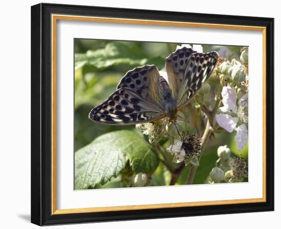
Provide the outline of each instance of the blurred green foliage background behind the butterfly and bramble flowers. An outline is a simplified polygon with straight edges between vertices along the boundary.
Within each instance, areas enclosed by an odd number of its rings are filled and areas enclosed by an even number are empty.
[[[159,70],[165,67],[165,59],[181,43],[138,42],[75,39],[75,151],[89,144],[99,135],[114,130],[135,129],[135,126],[111,126],[92,122],[88,119],[92,107],[99,105],[116,89],[120,79],[134,67],[154,64]],[[191,44],[192,45],[192,44]],[[203,52],[217,51],[220,57],[239,60],[242,47],[202,45]],[[209,141],[201,158],[195,184],[202,184],[217,160],[217,148],[228,145],[233,153],[238,153],[235,133],[216,134],[216,141]],[[247,149],[247,147],[246,147]],[[241,155],[241,154],[240,154]],[[247,150],[242,151],[247,159]],[[182,173],[186,178],[189,167]],[[161,166],[155,173],[163,173]],[[181,179],[180,177],[180,179]],[[179,179],[179,182],[180,182]],[[185,180],[184,180],[185,181]],[[183,181],[183,182],[184,182]],[[154,180],[157,182],[157,180]]]

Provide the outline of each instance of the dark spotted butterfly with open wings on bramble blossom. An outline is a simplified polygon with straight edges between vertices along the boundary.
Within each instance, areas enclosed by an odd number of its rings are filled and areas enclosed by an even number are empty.
[[[166,58],[168,82],[155,65],[126,73],[107,100],[93,107],[89,119],[109,125],[133,125],[168,118],[188,104],[215,68],[218,53],[183,47]]]

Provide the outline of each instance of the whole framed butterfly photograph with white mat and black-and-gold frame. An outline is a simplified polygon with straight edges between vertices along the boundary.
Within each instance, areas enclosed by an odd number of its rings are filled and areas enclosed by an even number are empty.
[[[273,211],[273,22],[32,6],[32,223]]]

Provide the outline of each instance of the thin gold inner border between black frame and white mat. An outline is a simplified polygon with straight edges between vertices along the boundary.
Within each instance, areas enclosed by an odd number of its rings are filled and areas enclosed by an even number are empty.
[[[252,198],[252,199],[236,199],[236,200],[125,205],[125,206],[117,206],[117,207],[57,209],[56,208],[57,205],[56,204],[57,203],[57,198],[56,198],[56,193],[57,193],[57,189],[56,189],[56,182],[57,182],[56,179],[56,78],[57,78],[56,26],[57,26],[57,20],[95,21],[95,22],[109,22],[109,23],[123,23],[123,24],[262,31],[263,32],[263,197]],[[52,176],[52,208],[51,208],[52,215],[266,202],[266,27],[52,14],[52,174],[51,176]]]

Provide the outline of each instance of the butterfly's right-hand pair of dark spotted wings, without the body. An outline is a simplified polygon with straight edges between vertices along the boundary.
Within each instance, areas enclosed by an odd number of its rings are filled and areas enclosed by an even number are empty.
[[[217,52],[197,53],[185,47],[166,59],[168,80],[177,101],[177,109],[181,109],[196,95],[214,70],[217,60]]]

